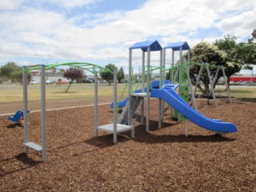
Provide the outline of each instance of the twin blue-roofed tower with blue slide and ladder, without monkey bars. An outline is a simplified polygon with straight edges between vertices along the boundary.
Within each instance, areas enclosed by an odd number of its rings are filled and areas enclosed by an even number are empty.
[[[178,73],[174,74],[174,70],[171,70],[171,84],[164,85],[165,83],[165,75],[163,72],[165,71],[166,66],[166,49],[172,49],[172,69],[174,69],[174,51],[179,50],[180,58],[178,67],[175,66],[175,69],[178,69]],[[126,102],[126,107],[122,111],[120,116],[120,123],[126,123],[127,125],[131,125],[132,116],[134,115],[134,111],[140,107],[141,112],[141,123],[143,123],[143,111],[144,111],[144,102],[146,100],[146,131],[150,130],[150,97],[158,98],[158,128],[162,127],[162,119],[163,119],[163,102],[167,102],[168,105],[172,106],[177,112],[174,117],[178,118],[178,121],[185,120],[186,118],[190,119],[191,122],[198,124],[198,126],[202,126],[207,130],[214,130],[220,133],[230,133],[237,131],[237,128],[232,123],[222,122],[220,120],[213,120],[210,118],[206,118],[199,114],[196,110],[191,108],[188,102],[188,94],[189,90],[191,90],[192,102],[195,105],[194,94],[192,90],[192,84],[190,81],[189,75],[189,64],[190,64],[190,46],[188,46],[187,42],[175,42],[170,43],[164,47],[164,54],[162,57],[162,46],[158,43],[158,41],[147,41],[147,42],[137,42],[133,46],[130,46],[129,50],[129,79],[128,82],[131,82],[131,69],[132,69],[132,50],[140,49],[142,50],[142,71],[146,71],[146,86],[144,75],[142,75],[142,86],[141,92],[132,92],[131,83],[129,84],[129,99]],[[182,50],[189,51],[189,59],[187,62],[182,63]],[[160,52],[160,80],[158,82],[158,87],[152,86],[150,83],[150,52],[151,51],[159,51]],[[147,61],[145,62],[145,53],[147,54]],[[164,62],[162,62],[162,60]],[[146,67],[145,67],[146,66]],[[206,65],[207,66],[207,65]],[[145,70],[146,68],[146,70]],[[209,69],[209,68],[208,68]],[[176,78],[174,76],[176,75]],[[178,78],[178,81],[175,80]],[[210,75],[209,75],[210,78]],[[174,83],[178,83],[175,86]],[[146,87],[146,88],[145,88]],[[178,87],[178,94],[174,92],[174,90]],[[211,87],[212,84],[211,84]],[[212,91],[214,91],[212,89]],[[214,93],[214,92],[213,92]],[[183,119],[182,119],[183,118]],[[200,119],[199,121],[197,119]],[[203,123],[201,123],[203,122]],[[188,132],[187,123],[186,123],[186,135]]]

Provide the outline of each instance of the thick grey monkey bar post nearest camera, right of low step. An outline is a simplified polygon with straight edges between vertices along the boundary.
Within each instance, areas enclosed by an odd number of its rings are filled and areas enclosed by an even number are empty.
[[[46,66],[41,65],[41,129],[42,129],[42,161],[47,162],[46,151]]]

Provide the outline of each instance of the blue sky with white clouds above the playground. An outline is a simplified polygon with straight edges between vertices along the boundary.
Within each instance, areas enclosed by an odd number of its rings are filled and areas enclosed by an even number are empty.
[[[9,0],[0,2],[0,66],[55,62],[128,65],[134,42],[193,47],[256,27],[251,0]],[[138,66],[140,53],[134,54]],[[158,55],[152,55],[157,62]]]

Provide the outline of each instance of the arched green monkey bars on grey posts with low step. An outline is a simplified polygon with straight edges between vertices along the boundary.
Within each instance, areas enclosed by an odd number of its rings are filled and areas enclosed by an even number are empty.
[[[98,66],[88,62],[65,62],[58,64],[37,65],[37,66],[23,66],[23,106],[24,106],[24,150],[27,154],[29,149],[37,150],[42,153],[42,161],[47,162],[46,154],[46,70],[57,66],[74,66],[83,70],[90,71],[94,74],[94,126],[98,126],[98,73],[107,70],[113,74],[113,71],[108,70],[102,66]],[[41,71],[41,136],[42,144],[30,141],[30,131],[28,126],[28,94],[27,94],[27,72],[30,70]],[[95,129],[96,130],[96,129]]]

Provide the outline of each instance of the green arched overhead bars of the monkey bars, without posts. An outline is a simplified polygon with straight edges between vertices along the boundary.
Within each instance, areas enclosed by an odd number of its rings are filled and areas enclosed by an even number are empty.
[[[26,69],[26,72],[29,72],[30,70],[40,70],[40,66],[41,65],[30,67],[30,68]],[[106,70],[106,71],[109,71],[111,74],[114,74],[113,71],[108,70],[105,67],[98,66],[96,64],[89,63],[89,62],[64,62],[64,63],[57,63],[57,64],[49,64],[49,65],[46,65],[46,70],[49,70],[49,69],[57,67],[57,66],[76,66],[83,70],[88,70],[92,74],[98,74],[98,71],[96,69]],[[87,68],[84,66],[93,66],[93,67]],[[95,69],[95,70],[91,70],[91,69]]]

